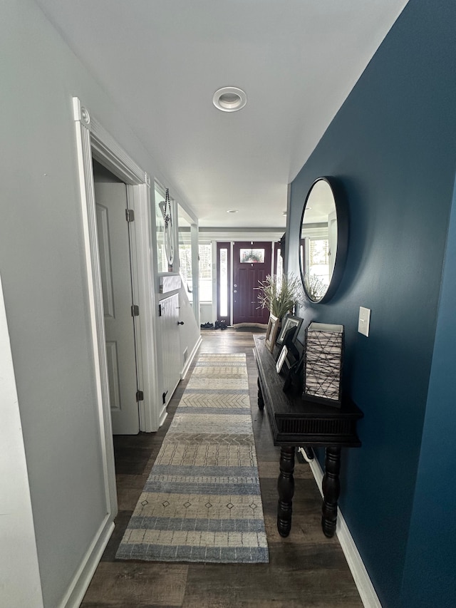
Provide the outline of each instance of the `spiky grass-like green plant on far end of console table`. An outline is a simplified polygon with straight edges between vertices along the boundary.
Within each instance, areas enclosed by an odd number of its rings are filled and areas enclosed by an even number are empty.
[[[264,281],[259,281],[258,302],[261,308],[267,308],[270,314],[282,319],[287,312],[293,312],[296,304],[301,302],[301,280],[294,274],[284,274],[281,281],[275,274],[268,274]]]

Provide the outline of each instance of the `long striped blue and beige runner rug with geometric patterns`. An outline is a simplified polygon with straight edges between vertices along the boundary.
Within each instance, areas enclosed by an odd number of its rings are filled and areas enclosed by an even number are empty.
[[[202,354],[116,557],[269,562],[245,354]]]

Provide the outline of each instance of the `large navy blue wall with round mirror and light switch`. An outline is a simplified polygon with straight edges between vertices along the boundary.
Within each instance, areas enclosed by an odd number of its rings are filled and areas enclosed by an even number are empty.
[[[455,24],[454,0],[438,8],[410,0],[291,185],[294,272],[311,183],[331,175],[346,194],[351,232],[341,286],[301,316],[346,326],[345,382],[365,418],[363,447],[343,453],[340,505],[388,608],[418,605],[400,596],[406,559],[413,576],[409,531],[420,527],[415,485],[455,180]],[[372,310],[368,338],[357,332],[359,306]],[[426,457],[440,466],[438,450]],[[438,605],[437,597],[420,605]]]

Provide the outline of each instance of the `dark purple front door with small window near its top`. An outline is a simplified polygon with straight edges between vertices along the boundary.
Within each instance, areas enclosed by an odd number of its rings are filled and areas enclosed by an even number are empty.
[[[233,323],[263,323],[269,310],[258,302],[259,282],[271,274],[270,242],[237,242],[233,246]]]

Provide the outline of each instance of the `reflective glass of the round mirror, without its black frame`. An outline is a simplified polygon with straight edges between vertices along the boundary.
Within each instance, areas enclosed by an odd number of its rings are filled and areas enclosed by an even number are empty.
[[[314,182],[301,220],[299,261],[304,290],[311,302],[328,294],[338,248],[338,217],[333,189],[326,177]]]

